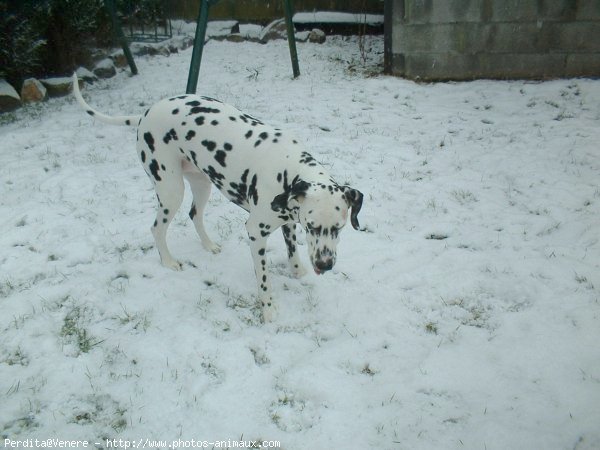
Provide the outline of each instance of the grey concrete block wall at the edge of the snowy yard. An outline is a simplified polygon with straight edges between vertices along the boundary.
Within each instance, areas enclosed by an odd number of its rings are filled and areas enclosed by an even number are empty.
[[[385,14],[396,75],[600,76],[600,0],[386,0]]]

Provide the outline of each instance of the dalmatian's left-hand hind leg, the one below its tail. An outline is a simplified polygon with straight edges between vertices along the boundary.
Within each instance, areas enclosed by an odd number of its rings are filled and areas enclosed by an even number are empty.
[[[153,179],[153,181],[158,199],[156,220],[151,228],[154,242],[162,265],[170,269],[181,270],[183,268],[181,263],[173,258],[167,247],[167,230],[183,201],[184,185],[181,169],[167,175],[163,174],[162,178]]]

